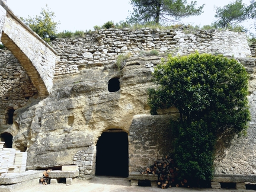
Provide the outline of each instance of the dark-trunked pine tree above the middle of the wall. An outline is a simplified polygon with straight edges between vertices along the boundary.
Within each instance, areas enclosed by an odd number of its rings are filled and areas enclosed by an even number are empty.
[[[161,21],[174,21],[192,15],[200,15],[204,5],[196,7],[196,1],[187,4],[186,0],[131,0],[133,12],[129,23],[159,24]]]

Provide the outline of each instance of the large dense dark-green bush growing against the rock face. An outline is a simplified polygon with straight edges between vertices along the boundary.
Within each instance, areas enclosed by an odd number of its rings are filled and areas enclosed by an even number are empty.
[[[169,57],[153,72],[158,88],[149,89],[151,114],[176,107],[172,121],[180,177],[194,184],[212,178],[213,149],[219,133],[245,132],[249,121],[248,75],[235,59],[194,53]]]

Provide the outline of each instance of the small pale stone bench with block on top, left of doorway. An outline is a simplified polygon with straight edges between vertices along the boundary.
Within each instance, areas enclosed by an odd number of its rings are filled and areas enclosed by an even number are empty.
[[[58,181],[65,179],[66,184],[72,184],[73,180],[78,177],[79,171],[77,165],[62,166],[62,171],[50,171],[50,184],[57,184]]]

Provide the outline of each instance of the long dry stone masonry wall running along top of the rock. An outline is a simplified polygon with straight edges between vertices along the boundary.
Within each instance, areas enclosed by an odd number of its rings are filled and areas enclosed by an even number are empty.
[[[52,43],[58,52],[55,75],[96,69],[99,66],[114,68],[120,54],[139,56],[152,49],[158,50],[160,54],[172,55],[187,55],[198,51],[224,56],[251,56],[245,34],[232,31],[203,30],[185,34],[181,30],[151,28],[102,29],[98,34],[79,39],[56,39]]]

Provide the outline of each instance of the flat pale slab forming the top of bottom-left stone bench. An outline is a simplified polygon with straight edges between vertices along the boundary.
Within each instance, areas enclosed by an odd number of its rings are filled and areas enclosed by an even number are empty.
[[[42,176],[43,171],[25,171],[22,173],[11,173],[0,177],[0,185],[22,183],[24,181],[39,179]]]

